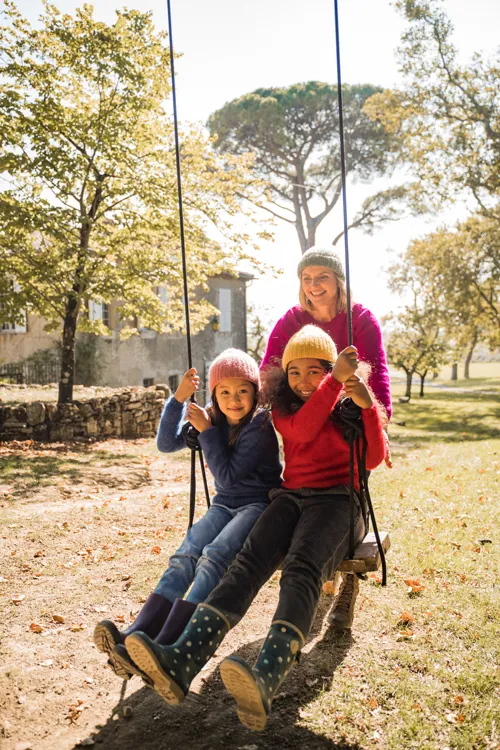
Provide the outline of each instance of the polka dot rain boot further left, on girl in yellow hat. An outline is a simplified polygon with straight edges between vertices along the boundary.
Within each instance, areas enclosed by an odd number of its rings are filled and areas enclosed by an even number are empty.
[[[229,628],[229,621],[221,612],[199,604],[186,629],[171,646],[161,646],[145,633],[129,635],[125,646],[133,662],[151,678],[156,692],[168,704],[177,706]]]

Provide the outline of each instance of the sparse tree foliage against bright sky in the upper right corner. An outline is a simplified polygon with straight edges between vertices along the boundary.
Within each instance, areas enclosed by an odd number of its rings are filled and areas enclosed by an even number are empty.
[[[461,64],[442,0],[398,0],[409,22],[399,49],[403,86],[365,111],[399,142],[431,208],[471,196],[500,221],[500,50]]]

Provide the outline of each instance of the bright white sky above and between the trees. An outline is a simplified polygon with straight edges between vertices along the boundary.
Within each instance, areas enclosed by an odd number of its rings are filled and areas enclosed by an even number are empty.
[[[52,0],[72,13],[77,0]],[[152,11],[158,28],[167,28],[163,0],[101,0],[100,20],[112,23],[114,9],[126,5]],[[41,0],[17,0],[19,10],[35,22]],[[444,0],[455,26],[454,42],[463,62],[474,52],[492,53],[499,45],[500,3],[493,0]],[[171,0],[173,41],[182,57],[176,61],[177,107],[181,120],[205,123],[226,102],[264,86],[286,86],[319,80],[336,83],[333,0]],[[389,0],[339,0],[340,51],[344,83],[372,83],[386,88],[400,81],[395,58],[404,23]],[[347,186],[348,213],[356,213],[363,198],[388,186],[386,180]],[[388,291],[385,269],[411,239],[440,224],[452,225],[464,206],[438,217],[409,218],[367,236],[349,235],[350,267],[355,300],[381,317],[398,305]],[[339,231],[338,209],[325,220],[317,244],[330,246]],[[260,258],[283,269],[279,279],[256,279],[249,300],[267,308],[275,321],[297,302],[296,265],[300,246],[293,227],[278,224],[273,243],[262,245]],[[337,246],[339,248],[339,246]],[[343,252],[343,246],[339,248]]]

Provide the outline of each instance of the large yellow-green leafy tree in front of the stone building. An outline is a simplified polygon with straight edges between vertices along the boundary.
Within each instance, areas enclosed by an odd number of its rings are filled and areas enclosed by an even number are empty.
[[[158,331],[183,326],[169,52],[150,13],[117,11],[107,25],[90,5],[70,16],[46,4],[35,28],[6,0],[2,16],[2,316],[27,310],[62,327],[65,401],[77,325],[103,332],[89,320],[90,300],[118,300],[129,332],[137,318]],[[252,178],[247,157],[221,165],[202,132],[185,128],[181,140],[193,292],[248,257],[231,215]],[[193,300],[193,330],[212,313]]]

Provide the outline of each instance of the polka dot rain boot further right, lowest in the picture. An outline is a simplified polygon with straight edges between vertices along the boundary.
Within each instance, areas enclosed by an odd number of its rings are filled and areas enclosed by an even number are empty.
[[[236,701],[238,718],[245,727],[257,732],[265,729],[273,697],[303,645],[304,637],[298,628],[276,620],[253,669],[238,656],[224,659],[221,677]]]

